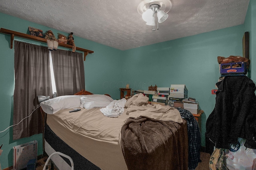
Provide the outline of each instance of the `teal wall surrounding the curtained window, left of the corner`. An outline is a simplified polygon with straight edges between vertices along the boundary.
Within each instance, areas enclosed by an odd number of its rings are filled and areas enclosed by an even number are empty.
[[[40,28],[44,32],[51,29],[54,35],[58,35],[57,33],[68,35],[68,33],[0,13],[1,28],[28,33],[28,26]],[[20,39],[18,37],[15,38]],[[75,35],[74,40],[77,47],[94,51],[94,53],[87,55],[86,61],[84,61],[86,90],[94,94],[110,94],[113,98],[119,98],[118,87],[123,86],[123,84],[120,84],[122,79],[122,72],[120,70],[122,68],[121,59],[124,52]],[[25,41],[28,42],[28,40]],[[46,46],[46,43],[29,42]],[[14,48],[10,49],[10,35],[0,33],[0,51],[0,131],[3,131],[12,125],[13,115]],[[42,154],[42,134],[13,141],[12,128],[0,133],[0,145],[3,144],[3,152],[0,156],[2,169],[13,164],[12,147],[33,140],[38,141],[38,155]]]

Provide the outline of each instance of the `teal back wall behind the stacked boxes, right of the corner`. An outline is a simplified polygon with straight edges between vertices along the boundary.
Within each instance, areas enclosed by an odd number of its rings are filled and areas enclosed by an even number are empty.
[[[159,30],[161,31],[161,30]],[[188,96],[198,100],[202,115],[202,146],[205,123],[215,105],[215,84],[220,77],[218,56],[242,56],[243,25],[157,43],[126,51],[123,78],[131,88],[146,90],[155,84],[185,84]]]

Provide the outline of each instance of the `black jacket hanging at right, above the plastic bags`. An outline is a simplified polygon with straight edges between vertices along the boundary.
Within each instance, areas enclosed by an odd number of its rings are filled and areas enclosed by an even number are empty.
[[[216,104],[206,121],[206,137],[218,148],[229,149],[238,137],[256,149],[255,84],[247,76],[227,76],[216,83]]]

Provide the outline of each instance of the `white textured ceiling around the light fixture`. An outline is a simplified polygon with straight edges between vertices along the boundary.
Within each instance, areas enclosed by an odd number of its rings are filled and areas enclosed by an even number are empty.
[[[249,0],[171,0],[168,19],[152,31],[137,10],[141,2],[1,0],[0,12],[126,50],[243,24],[249,4]]]

